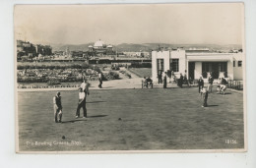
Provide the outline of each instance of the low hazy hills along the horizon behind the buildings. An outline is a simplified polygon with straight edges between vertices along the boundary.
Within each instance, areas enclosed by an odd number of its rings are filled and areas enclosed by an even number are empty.
[[[53,51],[65,51],[69,48],[70,51],[88,51],[90,45],[94,45],[94,42],[86,43],[86,44],[50,44],[52,46]],[[242,45],[239,44],[168,44],[168,43],[121,43],[117,45],[113,45],[113,49],[118,52],[139,52],[139,51],[151,51],[156,50],[159,47],[164,49],[176,49],[183,48],[185,50],[189,50],[191,48],[208,48],[209,50],[218,50],[218,51],[226,51],[233,49],[241,49]]]

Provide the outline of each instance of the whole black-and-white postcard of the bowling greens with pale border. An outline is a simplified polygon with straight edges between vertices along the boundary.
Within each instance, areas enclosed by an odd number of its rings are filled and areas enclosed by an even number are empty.
[[[247,151],[243,3],[15,5],[19,153]]]

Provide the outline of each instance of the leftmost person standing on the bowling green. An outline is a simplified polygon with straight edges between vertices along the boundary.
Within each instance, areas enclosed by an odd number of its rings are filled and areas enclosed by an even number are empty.
[[[57,91],[56,95],[53,97],[53,110],[54,110],[54,121],[55,123],[62,122],[62,105],[60,91]]]

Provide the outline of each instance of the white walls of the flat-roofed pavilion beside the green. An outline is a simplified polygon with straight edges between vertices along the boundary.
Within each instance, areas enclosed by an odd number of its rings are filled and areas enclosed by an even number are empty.
[[[195,62],[195,79],[202,76],[202,62],[227,62],[227,76],[230,80],[242,80],[242,67],[238,67],[238,61],[243,60],[242,53],[188,53],[185,50],[176,51],[153,51],[152,52],[152,74],[153,81],[158,81],[157,59],[163,59],[164,72],[169,70],[170,59],[179,59],[179,72],[175,72],[176,78],[180,77],[180,73],[184,75],[188,70],[188,61]],[[233,67],[235,61],[235,67]],[[167,79],[169,80],[169,79]]]

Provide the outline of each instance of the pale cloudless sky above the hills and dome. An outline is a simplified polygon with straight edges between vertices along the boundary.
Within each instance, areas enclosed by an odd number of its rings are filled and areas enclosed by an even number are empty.
[[[33,43],[242,44],[242,3],[16,5],[16,39]]]

